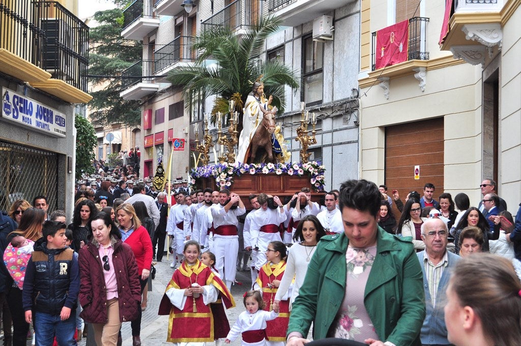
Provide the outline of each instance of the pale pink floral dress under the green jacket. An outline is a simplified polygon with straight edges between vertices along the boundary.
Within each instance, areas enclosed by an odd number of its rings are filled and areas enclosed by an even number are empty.
[[[376,245],[359,249],[348,246],[345,253],[347,267],[345,296],[335,318],[329,337],[364,342],[378,340],[375,328],[364,306],[364,291],[375,261]]]

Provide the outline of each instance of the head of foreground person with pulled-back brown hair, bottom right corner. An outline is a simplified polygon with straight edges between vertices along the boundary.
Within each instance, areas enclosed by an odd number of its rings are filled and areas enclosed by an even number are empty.
[[[456,346],[518,345],[519,273],[519,261],[495,255],[480,254],[458,261],[444,307],[449,342]]]

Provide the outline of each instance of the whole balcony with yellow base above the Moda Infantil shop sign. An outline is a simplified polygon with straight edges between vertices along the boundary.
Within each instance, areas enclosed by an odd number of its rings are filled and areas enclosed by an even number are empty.
[[[87,102],[88,48],[89,27],[58,2],[0,2],[0,71],[7,75],[67,102]]]

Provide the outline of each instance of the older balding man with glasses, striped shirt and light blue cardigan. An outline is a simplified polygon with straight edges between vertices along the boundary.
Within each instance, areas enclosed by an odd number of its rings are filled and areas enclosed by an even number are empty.
[[[430,218],[421,225],[421,239],[425,250],[418,252],[423,271],[425,305],[427,314],[421,327],[422,345],[448,345],[447,328],[443,312],[446,303],[445,290],[449,285],[451,269],[460,256],[446,250],[447,226],[439,218]]]

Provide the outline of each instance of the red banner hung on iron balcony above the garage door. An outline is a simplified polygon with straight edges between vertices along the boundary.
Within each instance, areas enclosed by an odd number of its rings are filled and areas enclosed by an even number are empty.
[[[376,69],[403,63],[408,58],[409,21],[376,32]]]

